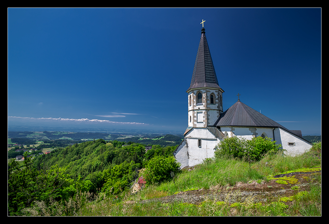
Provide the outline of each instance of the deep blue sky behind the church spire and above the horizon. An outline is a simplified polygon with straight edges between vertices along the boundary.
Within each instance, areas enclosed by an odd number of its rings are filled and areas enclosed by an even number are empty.
[[[202,19],[224,110],[321,134],[319,8],[10,8],[8,126],[184,133]]]

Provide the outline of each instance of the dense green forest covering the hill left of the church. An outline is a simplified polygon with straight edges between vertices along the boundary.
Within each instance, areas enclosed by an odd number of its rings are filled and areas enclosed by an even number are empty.
[[[135,183],[138,170],[150,160],[172,158],[176,148],[153,145],[145,153],[145,145],[124,144],[98,139],[25,158],[22,165],[12,159],[8,164],[8,215],[29,215],[28,208],[40,201],[65,207],[67,201],[79,200],[81,193],[119,195]],[[169,167],[178,172],[179,165],[171,162]]]

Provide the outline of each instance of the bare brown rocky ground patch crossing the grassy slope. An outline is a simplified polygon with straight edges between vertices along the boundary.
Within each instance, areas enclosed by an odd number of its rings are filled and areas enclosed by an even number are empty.
[[[277,183],[277,179],[273,179],[269,182],[263,181],[260,184],[256,181],[248,184],[238,183],[233,187],[214,187],[209,190],[201,189],[179,192],[170,196],[144,200],[142,203],[160,200],[162,203],[173,203],[177,201],[180,203],[199,204],[206,199],[234,203],[243,202],[248,197],[253,197],[255,202],[277,201],[280,197],[288,197],[299,191],[308,191],[310,185],[314,184],[312,175],[315,173],[319,173],[321,175],[321,171],[280,174],[274,177],[291,177],[294,182],[287,181],[287,184],[282,184]]]

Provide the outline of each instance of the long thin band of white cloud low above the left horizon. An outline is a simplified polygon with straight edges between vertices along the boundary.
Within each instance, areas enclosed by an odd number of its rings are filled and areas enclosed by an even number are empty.
[[[8,118],[19,118],[19,119],[30,119],[30,120],[45,120],[45,121],[73,121],[73,122],[92,122],[92,123],[111,123],[111,124],[137,124],[137,125],[149,125],[145,123],[138,123],[138,122],[117,122],[117,121],[108,121],[108,120],[98,120],[98,119],[88,119],[88,118],[81,118],[81,119],[72,119],[72,118],[52,118],[52,117],[14,117],[8,116]]]

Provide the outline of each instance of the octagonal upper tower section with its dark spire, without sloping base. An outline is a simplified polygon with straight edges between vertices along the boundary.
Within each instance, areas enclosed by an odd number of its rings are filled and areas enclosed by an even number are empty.
[[[193,128],[213,126],[223,112],[224,91],[218,85],[204,28],[201,29],[190,88],[186,92],[188,93],[188,126]]]

